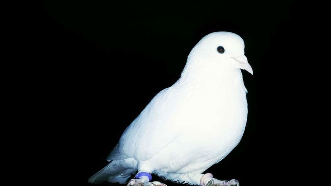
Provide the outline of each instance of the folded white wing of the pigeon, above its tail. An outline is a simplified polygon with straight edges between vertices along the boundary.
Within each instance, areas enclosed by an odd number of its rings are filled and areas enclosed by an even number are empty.
[[[134,158],[145,161],[159,153],[179,135],[172,126],[178,107],[176,91],[166,88],[158,93],[140,115],[125,129],[108,161]]]

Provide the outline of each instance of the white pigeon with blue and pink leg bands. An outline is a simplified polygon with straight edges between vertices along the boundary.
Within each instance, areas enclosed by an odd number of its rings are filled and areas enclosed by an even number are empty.
[[[166,186],[238,185],[203,172],[240,142],[247,122],[247,89],[242,70],[253,75],[243,39],[218,31],[191,50],[180,78],[160,91],[124,130],[107,157],[110,163],[88,180]],[[132,175],[133,178],[129,179]]]

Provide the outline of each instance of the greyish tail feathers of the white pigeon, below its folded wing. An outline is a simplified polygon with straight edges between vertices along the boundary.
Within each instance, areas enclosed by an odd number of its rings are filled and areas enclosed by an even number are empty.
[[[122,167],[118,161],[112,161],[99,172],[88,179],[90,183],[102,183],[104,181],[124,184],[137,169]]]

